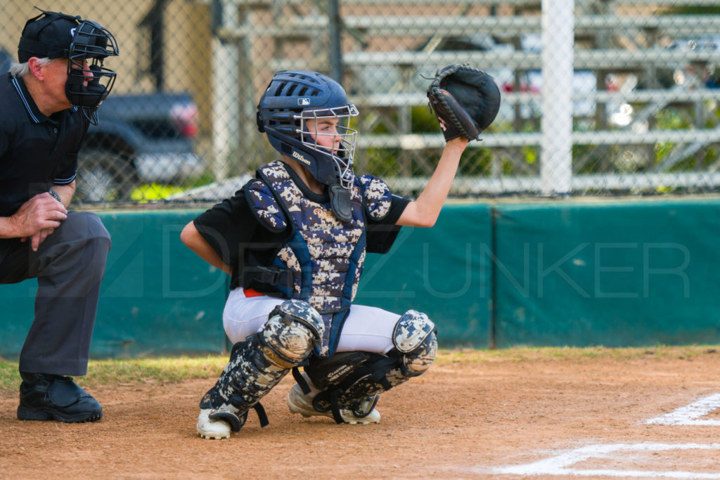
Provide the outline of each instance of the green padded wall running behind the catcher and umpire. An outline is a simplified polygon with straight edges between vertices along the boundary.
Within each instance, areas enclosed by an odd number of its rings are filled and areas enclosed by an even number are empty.
[[[218,353],[228,276],[179,240],[199,211],[101,212],[113,236],[94,357]],[[441,347],[720,343],[720,199],[454,203],[368,255],[356,303],[438,325]],[[35,281],[0,289],[0,356]]]

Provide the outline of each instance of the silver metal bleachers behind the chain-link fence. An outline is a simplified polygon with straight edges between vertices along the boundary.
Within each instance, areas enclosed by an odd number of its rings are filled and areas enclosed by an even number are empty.
[[[282,69],[312,68],[328,71],[329,57],[325,35],[329,19],[320,4],[302,1],[238,1],[243,9],[271,9],[272,22],[240,24],[225,29],[218,35],[225,39],[251,36],[258,41],[307,42],[311,55],[285,56],[256,59],[273,71]],[[427,14],[431,6],[450,4],[443,15]],[[343,43],[342,67],[346,84],[350,86],[352,101],[364,114],[364,133],[359,148],[402,148],[403,150],[440,149],[444,145],[441,135],[433,132],[413,132],[410,117],[413,107],[426,105],[426,96],[418,88],[418,77],[436,71],[451,63],[477,65],[487,71],[503,69],[511,71],[513,80],[519,82],[523,74],[540,71],[542,56],[539,49],[521,47],[528,34],[541,34],[540,1],[532,0],[348,0],[341,1],[343,9],[351,9],[342,17]],[[397,14],[392,6],[408,6]],[[446,5],[447,6],[447,5]],[[631,14],[624,14],[624,7],[631,6]],[[578,94],[575,101],[595,104],[589,118],[572,134],[573,145],[635,145],[649,146],[658,142],[674,143],[675,152],[660,166],[650,168],[648,173],[662,175],[680,160],[693,155],[706,145],[720,143],[720,123],[707,115],[694,115],[706,102],[720,101],[720,89],[705,86],[701,73],[712,71],[720,65],[720,44],[716,48],[697,48],[684,45],[687,39],[719,35],[720,14],[668,14],[670,6],[717,6],[716,0],[577,0],[575,2],[575,71],[589,71],[598,78],[596,88]],[[361,7],[366,7],[361,12]],[[413,7],[413,8],[410,8]],[[423,9],[424,8],[424,9]],[[495,14],[502,8],[502,14]],[[387,14],[387,12],[392,12]],[[417,10],[417,14],[415,13]],[[438,11],[437,9],[435,11]],[[640,12],[642,11],[642,12]],[[360,13],[361,12],[361,13]],[[424,13],[423,13],[424,12]],[[444,37],[486,35],[503,48],[474,51],[433,50],[433,45]],[[411,38],[422,48],[410,49],[395,44],[399,37]],[[387,39],[383,42],[382,39]],[[371,41],[372,40],[372,41]],[[435,42],[433,42],[435,40]],[[410,42],[412,43],[412,42]],[[253,62],[251,62],[253,63]],[[383,89],[354,84],[356,78],[374,69],[390,69],[397,72],[397,81]],[[683,81],[672,86],[662,85],[657,72],[683,73]],[[644,79],[641,86],[608,90],[604,78],[621,76]],[[541,95],[537,91],[503,91],[503,104],[510,112],[510,129],[492,131],[482,142],[472,142],[474,148],[512,149],[536,148],[540,142],[537,131]],[[631,104],[634,121],[626,125],[609,124],[606,105]],[[654,115],[662,109],[674,106],[685,109],[693,117],[690,129],[655,130]],[[521,115],[521,111],[534,112]],[[580,115],[579,115],[580,117]],[[379,121],[397,119],[396,124],[385,133],[372,132]],[[528,123],[529,122],[529,123]],[[529,128],[528,124],[534,125]],[[642,124],[642,127],[641,127]],[[426,169],[430,173],[431,167]],[[612,172],[608,172],[612,173]],[[680,173],[675,174],[675,176]],[[720,178],[710,178],[718,181]],[[477,188],[482,179],[475,178]],[[485,180],[488,180],[486,177]],[[422,181],[422,179],[420,179]],[[582,185],[582,178],[575,181]],[[623,182],[606,176],[607,188],[624,188]],[[658,179],[657,181],[661,181]],[[663,178],[662,181],[667,181]],[[472,183],[468,180],[469,184]],[[608,182],[610,182],[608,184]],[[682,183],[683,180],[678,180]],[[676,182],[676,183],[678,183]],[[462,182],[461,182],[462,183]],[[505,182],[507,184],[507,182]],[[652,183],[652,182],[651,182]],[[463,190],[462,187],[458,187]],[[495,187],[492,187],[495,188]],[[490,188],[490,189],[492,189]],[[513,188],[523,189],[522,181]],[[469,191],[470,189],[468,187]]]

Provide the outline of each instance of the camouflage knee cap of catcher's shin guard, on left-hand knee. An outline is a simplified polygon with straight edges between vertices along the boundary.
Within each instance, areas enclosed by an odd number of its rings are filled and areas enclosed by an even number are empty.
[[[323,338],[323,318],[309,303],[287,300],[270,312],[260,332],[265,356],[277,366],[292,368],[310,356]]]

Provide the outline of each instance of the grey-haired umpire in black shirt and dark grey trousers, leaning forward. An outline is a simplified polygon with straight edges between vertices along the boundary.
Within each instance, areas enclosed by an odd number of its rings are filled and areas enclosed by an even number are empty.
[[[81,142],[114,83],[102,63],[118,50],[95,22],[41,12],[0,75],[0,284],[37,278],[17,417],[93,422],[102,407],[66,375],[87,371],[110,235],[67,207]]]

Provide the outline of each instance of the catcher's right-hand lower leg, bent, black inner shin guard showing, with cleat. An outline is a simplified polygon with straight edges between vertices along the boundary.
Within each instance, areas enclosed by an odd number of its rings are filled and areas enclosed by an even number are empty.
[[[432,365],[438,351],[436,328],[426,314],[410,310],[400,317],[393,335],[395,348],[387,355],[343,352],[311,358],[287,397],[290,412],[305,417],[325,415],[338,423],[377,423],[378,396],[418,376]]]

